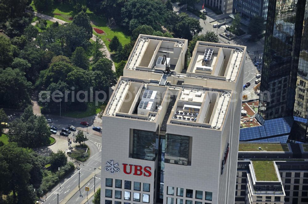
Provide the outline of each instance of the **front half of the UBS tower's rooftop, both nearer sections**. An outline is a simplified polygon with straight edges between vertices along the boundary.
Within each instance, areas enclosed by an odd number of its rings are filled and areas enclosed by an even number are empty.
[[[161,116],[165,122],[170,119],[171,124],[219,129],[230,98],[231,91],[228,90],[185,84],[159,86],[159,82],[154,80],[122,77],[106,114],[155,121],[164,108],[169,110]]]

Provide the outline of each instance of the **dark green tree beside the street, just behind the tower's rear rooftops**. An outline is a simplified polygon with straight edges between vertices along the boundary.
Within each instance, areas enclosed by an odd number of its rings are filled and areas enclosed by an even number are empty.
[[[186,13],[180,13],[179,18],[180,21],[177,22],[174,28],[174,33],[177,37],[191,40],[195,34],[202,31],[200,22],[197,19],[189,17]]]

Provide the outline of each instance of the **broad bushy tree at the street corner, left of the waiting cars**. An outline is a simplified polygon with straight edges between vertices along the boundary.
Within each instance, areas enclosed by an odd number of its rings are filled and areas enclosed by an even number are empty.
[[[33,114],[32,106],[28,106],[20,118],[10,123],[8,137],[20,147],[37,147],[49,144],[50,128],[46,118]]]

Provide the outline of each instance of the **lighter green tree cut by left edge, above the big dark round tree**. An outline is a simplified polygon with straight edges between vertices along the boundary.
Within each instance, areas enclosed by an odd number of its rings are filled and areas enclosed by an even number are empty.
[[[14,47],[9,38],[0,35],[0,67],[6,68],[12,63]]]

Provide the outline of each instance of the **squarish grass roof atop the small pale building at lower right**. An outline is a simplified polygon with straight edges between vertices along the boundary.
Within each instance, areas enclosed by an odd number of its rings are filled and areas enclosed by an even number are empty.
[[[273,161],[252,161],[257,181],[278,181]]]

